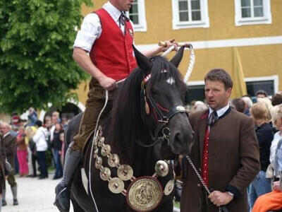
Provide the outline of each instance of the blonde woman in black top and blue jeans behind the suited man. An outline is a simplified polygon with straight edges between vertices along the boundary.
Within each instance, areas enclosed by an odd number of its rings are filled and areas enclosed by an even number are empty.
[[[271,192],[271,181],[266,178],[266,169],[269,166],[269,154],[271,141],[274,137],[272,127],[269,124],[271,114],[266,105],[258,102],[252,105],[250,114],[255,122],[257,141],[259,141],[259,161],[261,170],[250,184],[250,208],[254,206],[258,196]]]

